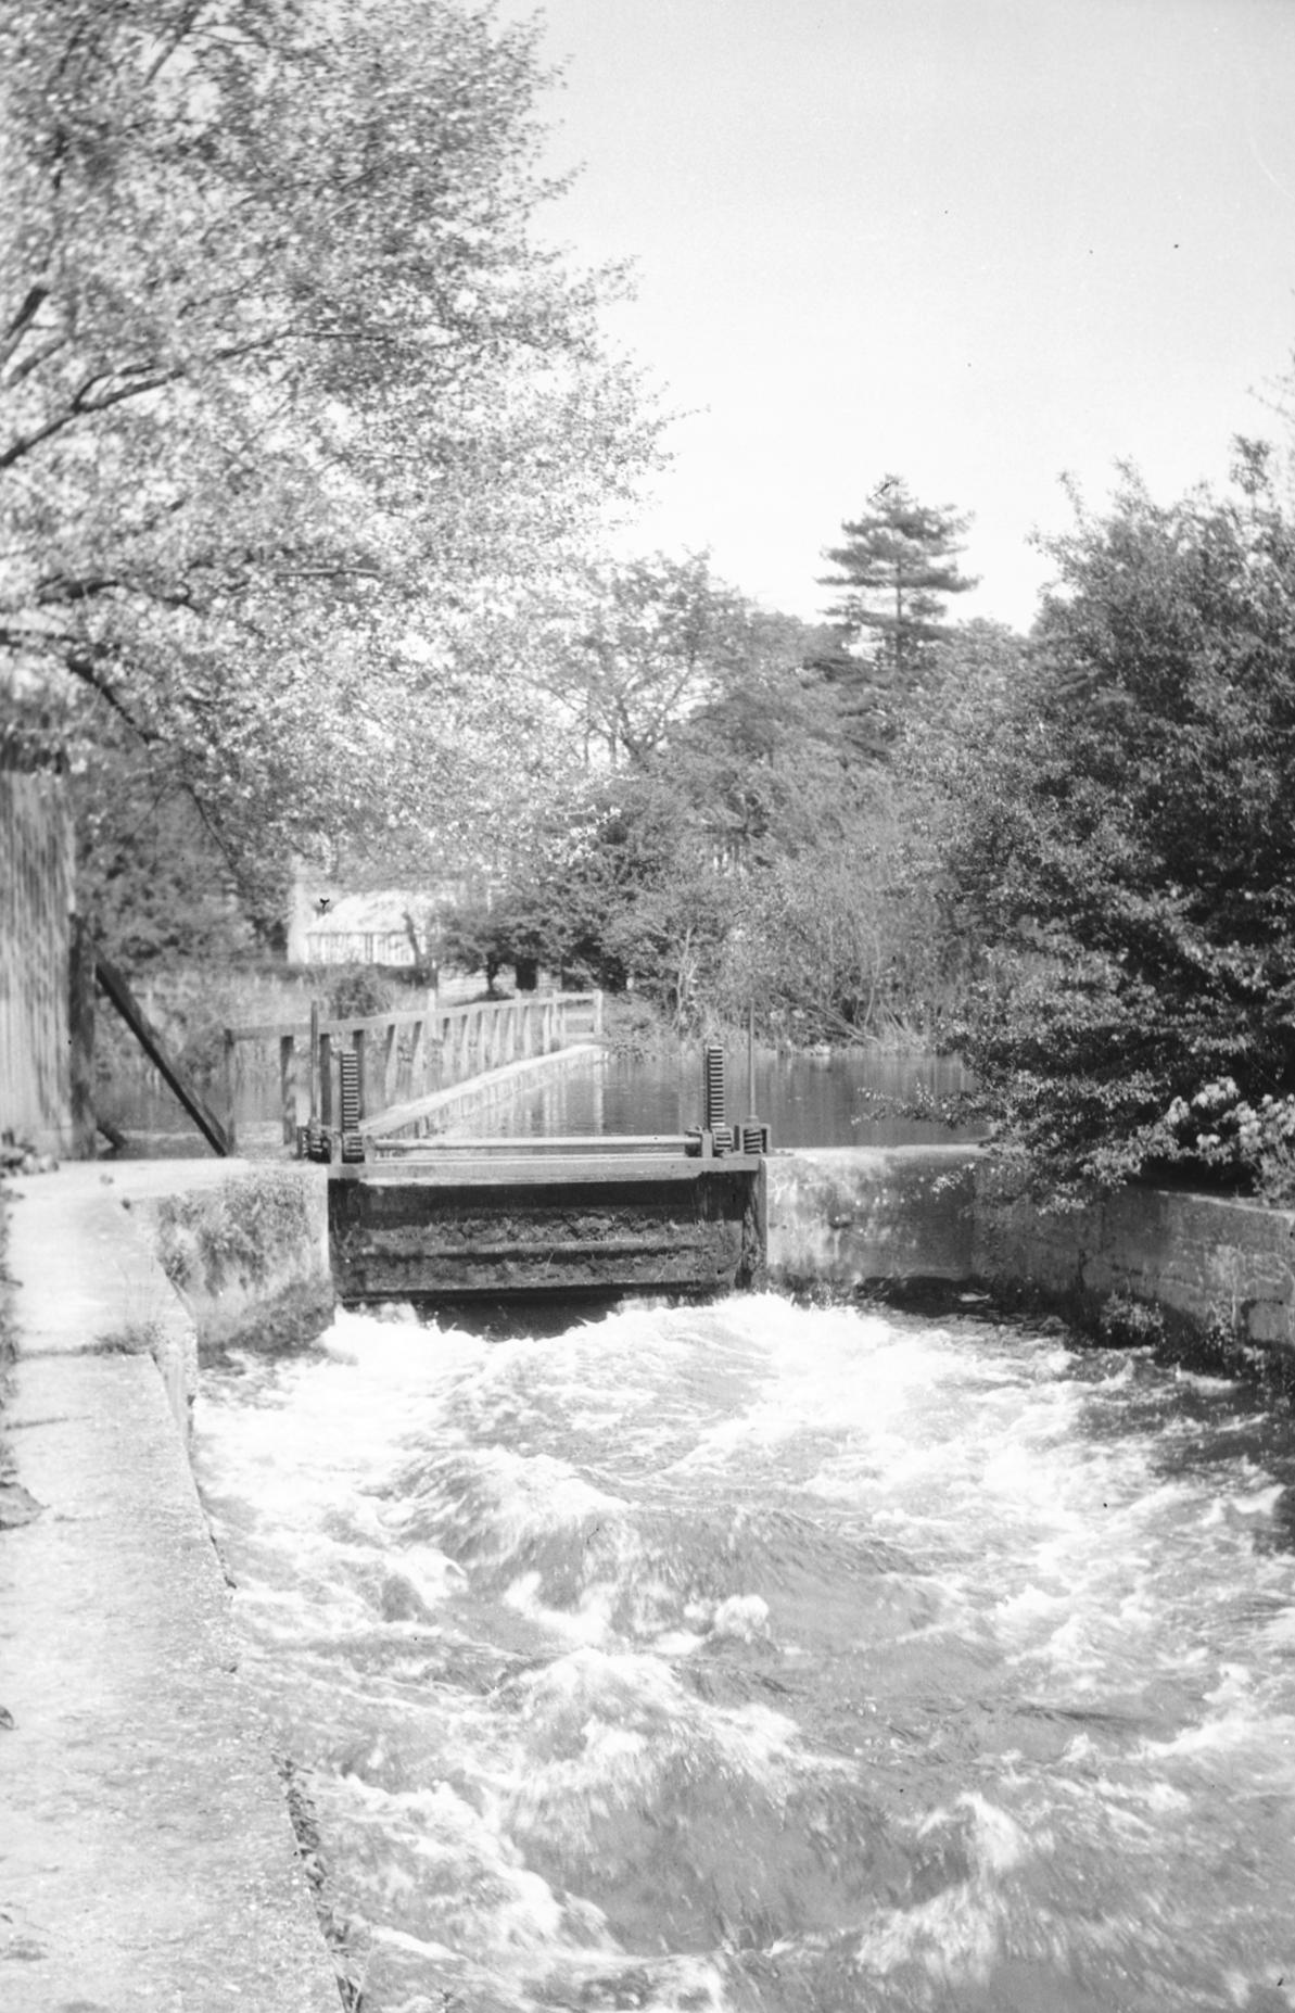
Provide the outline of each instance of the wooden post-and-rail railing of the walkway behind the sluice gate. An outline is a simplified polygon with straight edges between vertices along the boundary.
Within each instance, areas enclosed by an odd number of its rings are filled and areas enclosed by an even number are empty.
[[[532,1055],[550,1055],[602,1033],[602,992],[526,992],[510,1000],[467,1006],[427,1006],[344,1019],[264,1021],[228,1027],[224,1041],[224,1105],[230,1151],[236,1113],[252,1071],[278,1071],[278,1109],[286,1145],[318,1111],[336,1123],[334,1057],[352,1049],[358,1063],[361,1117],[377,1119],[395,1105],[417,1103],[489,1069]]]

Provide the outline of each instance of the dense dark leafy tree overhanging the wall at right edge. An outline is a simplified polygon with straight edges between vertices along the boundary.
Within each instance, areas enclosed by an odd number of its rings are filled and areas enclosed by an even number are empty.
[[[1267,453],[1053,541],[1031,670],[949,753],[945,868],[985,946],[963,1031],[1055,1188],[1174,1162],[1289,1182],[1295,527]]]

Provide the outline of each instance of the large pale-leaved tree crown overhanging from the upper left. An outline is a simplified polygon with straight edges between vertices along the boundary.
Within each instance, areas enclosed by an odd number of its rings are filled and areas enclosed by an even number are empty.
[[[536,745],[493,644],[657,441],[618,278],[534,242],[536,28],[4,0],[0,74],[0,662],[234,856],[479,819]]]

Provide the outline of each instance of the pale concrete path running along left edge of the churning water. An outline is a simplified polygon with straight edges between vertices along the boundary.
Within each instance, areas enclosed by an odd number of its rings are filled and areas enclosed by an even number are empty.
[[[42,1510],[0,1532],[4,2013],[340,2005],[236,1671],[183,1403],[131,1353],[187,1323],[131,1206],[236,1166],[73,1166],[6,1190],[4,1427]]]

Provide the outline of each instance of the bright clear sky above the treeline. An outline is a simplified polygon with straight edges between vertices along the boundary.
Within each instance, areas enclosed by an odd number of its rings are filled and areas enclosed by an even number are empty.
[[[503,18],[536,14],[501,0]],[[957,612],[1027,626],[1061,487],[1164,501],[1285,441],[1295,0],[548,0],[546,211],[681,417],[628,550],[816,618],[902,475],[971,511]]]

